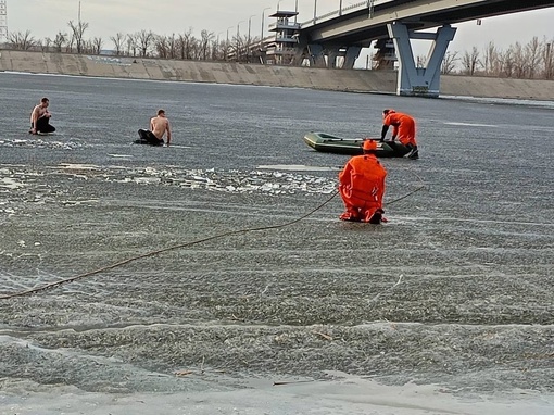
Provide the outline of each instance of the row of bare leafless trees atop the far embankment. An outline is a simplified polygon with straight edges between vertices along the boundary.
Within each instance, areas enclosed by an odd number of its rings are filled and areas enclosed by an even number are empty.
[[[100,54],[104,41],[100,37],[85,39],[88,23],[68,22],[70,32],[59,32],[53,39],[35,39],[30,30],[8,34],[8,46],[17,50],[42,50],[66,53]],[[113,43],[112,53],[125,56],[152,56],[162,59],[225,61],[232,56],[235,61],[250,61],[250,46],[257,43],[259,38],[232,36],[219,40],[214,33],[202,30],[200,38],[189,28],[184,34],[156,35],[151,30],[135,34],[117,33],[110,37]],[[418,66],[425,66],[425,58],[417,58]],[[442,65],[442,74],[483,75],[513,78],[554,78],[554,39],[542,41],[533,37],[527,45],[516,42],[506,50],[490,42],[483,51],[476,47],[471,51],[446,52]]]

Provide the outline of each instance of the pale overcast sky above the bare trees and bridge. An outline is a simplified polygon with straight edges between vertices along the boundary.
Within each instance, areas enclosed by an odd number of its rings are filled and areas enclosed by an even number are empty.
[[[341,0],[298,0],[299,22],[314,15],[339,9]],[[342,5],[358,3],[360,0],[342,0]],[[104,49],[111,49],[111,36],[121,32],[131,34],[141,29],[158,35],[179,34],[192,28],[200,35],[202,29],[213,32],[224,39],[237,33],[248,33],[249,20],[252,37],[260,36],[262,12],[265,15],[264,36],[267,35],[267,18],[279,5],[280,10],[294,10],[295,0],[80,0],[81,20],[89,24],[85,38],[101,37]],[[264,11],[264,9],[266,9]],[[78,21],[79,0],[7,0],[8,29],[10,32],[30,30],[35,39],[54,38],[60,30],[70,32],[68,21]],[[479,51],[493,41],[501,49],[529,42],[537,36],[554,39],[554,8],[491,17],[478,26],[475,21],[455,25],[457,33],[449,51],[469,51],[475,46]],[[416,47],[415,54],[421,47]]]

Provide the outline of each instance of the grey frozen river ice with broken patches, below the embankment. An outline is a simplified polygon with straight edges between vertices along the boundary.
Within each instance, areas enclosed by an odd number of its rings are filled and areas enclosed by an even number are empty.
[[[42,96],[58,133],[29,136]],[[554,411],[552,108],[23,74],[0,97],[1,414]],[[174,146],[131,144],[159,108]],[[302,136],[376,137],[385,108],[421,158],[383,160],[388,224],[342,223],[347,159]]]

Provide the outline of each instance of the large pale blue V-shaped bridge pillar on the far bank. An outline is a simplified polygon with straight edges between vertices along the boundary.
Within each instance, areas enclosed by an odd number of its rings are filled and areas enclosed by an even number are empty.
[[[399,58],[399,77],[396,85],[396,95],[399,96],[418,96],[418,97],[439,97],[441,63],[446,53],[446,49],[456,29],[450,25],[439,27],[433,33],[410,33],[402,23],[392,23],[387,25],[389,36],[394,42]],[[432,40],[433,45],[429,50],[427,67],[416,67],[414,63],[414,53],[410,39]]]

